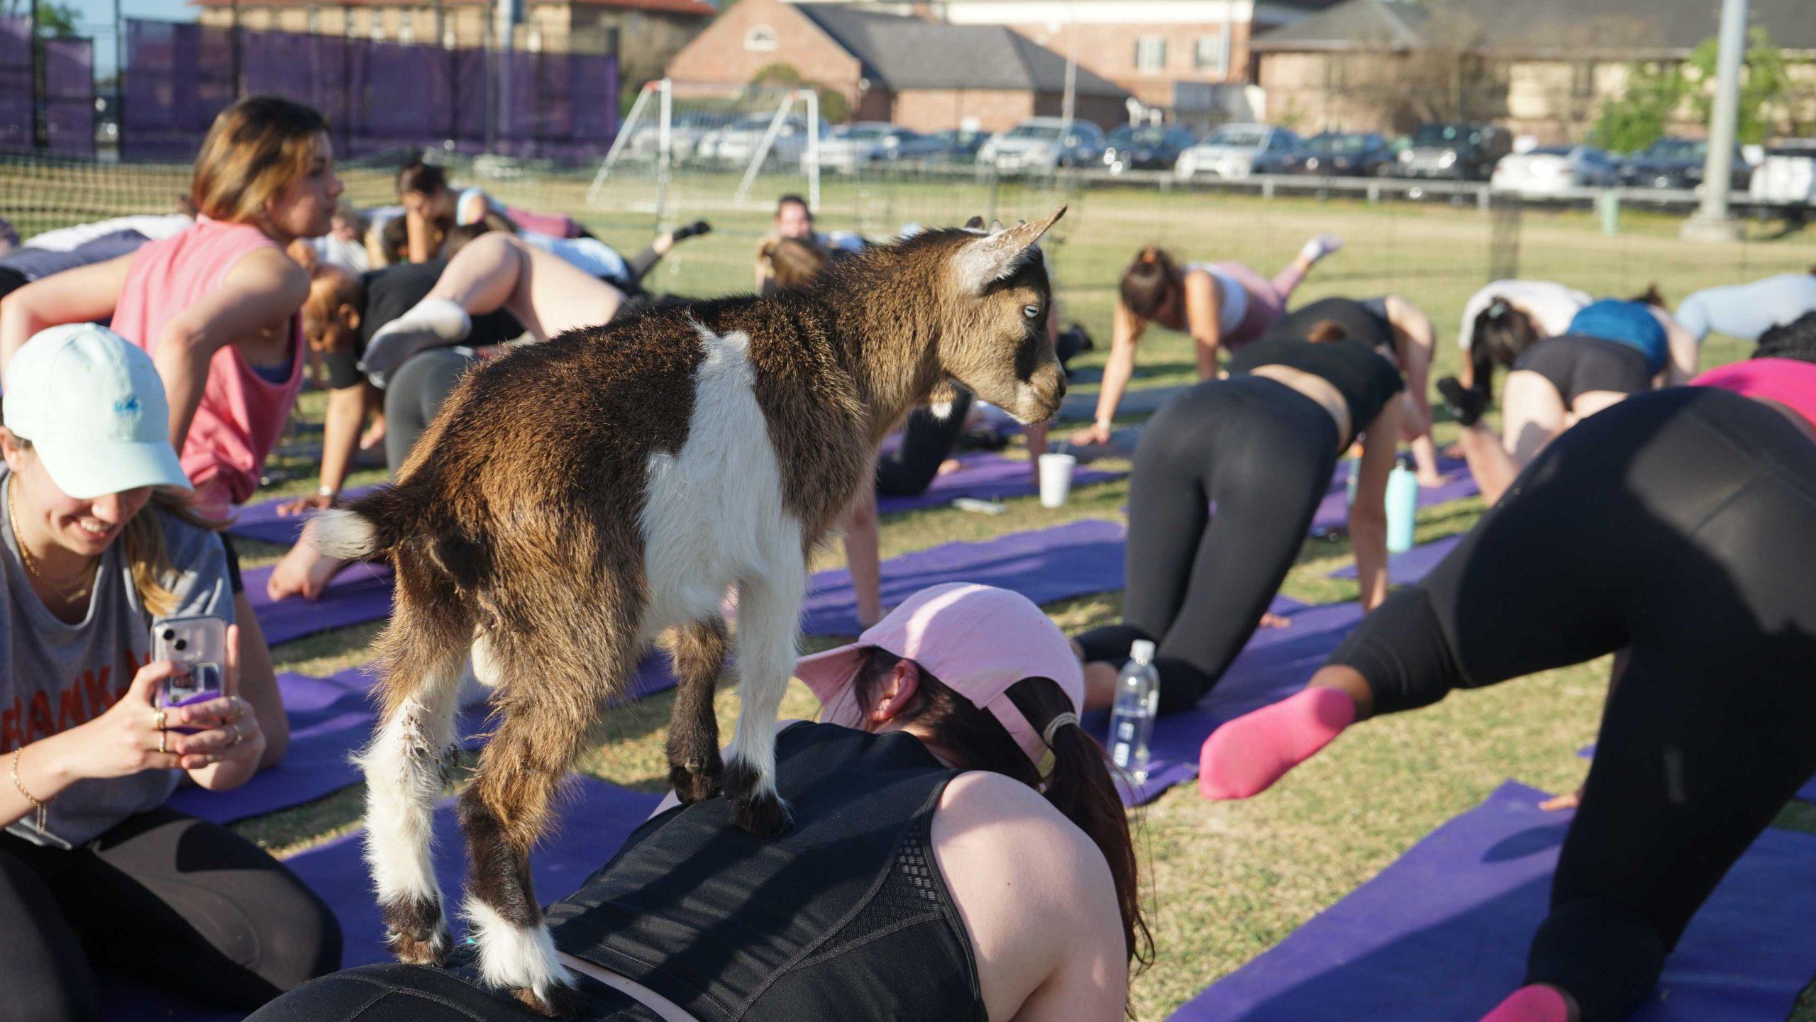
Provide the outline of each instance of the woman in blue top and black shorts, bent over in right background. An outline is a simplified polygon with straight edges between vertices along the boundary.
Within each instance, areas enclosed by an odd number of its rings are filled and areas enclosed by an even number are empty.
[[[1507,372],[1500,437],[1482,425],[1484,390],[1466,388],[1455,378],[1438,381],[1438,394],[1462,427],[1464,457],[1484,499],[1500,499],[1520,468],[1571,425],[1629,394],[1689,379],[1696,370],[1696,341],[1649,298],[1656,292],[1638,301],[1594,301],[1562,336],[1527,349]]]

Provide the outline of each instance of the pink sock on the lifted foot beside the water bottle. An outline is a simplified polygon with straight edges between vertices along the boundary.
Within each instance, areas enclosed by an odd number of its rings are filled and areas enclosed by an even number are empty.
[[[1206,739],[1199,755],[1199,791],[1217,801],[1260,795],[1355,719],[1355,701],[1335,688],[1308,688],[1237,717]]]

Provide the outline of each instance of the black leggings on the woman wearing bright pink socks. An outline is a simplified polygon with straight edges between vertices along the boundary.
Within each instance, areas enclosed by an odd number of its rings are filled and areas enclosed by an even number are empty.
[[[1725,390],[1640,394],[1553,441],[1331,663],[1375,710],[1625,648],[1529,982],[1620,1018],[1816,773],[1816,445]]]

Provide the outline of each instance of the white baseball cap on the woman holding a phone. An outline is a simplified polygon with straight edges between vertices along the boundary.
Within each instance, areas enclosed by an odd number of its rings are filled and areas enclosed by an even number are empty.
[[[138,486],[189,490],[171,448],[171,403],[151,356],[107,327],[40,330],[5,367],[5,428],[29,439],[76,499]]]

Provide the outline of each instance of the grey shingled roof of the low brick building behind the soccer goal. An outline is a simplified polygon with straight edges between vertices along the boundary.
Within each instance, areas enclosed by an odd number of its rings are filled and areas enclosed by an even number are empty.
[[[952,25],[832,4],[795,9],[886,89],[1066,89],[1064,56],[1001,25]],[[1128,91],[1079,67],[1077,94],[1122,98]]]

